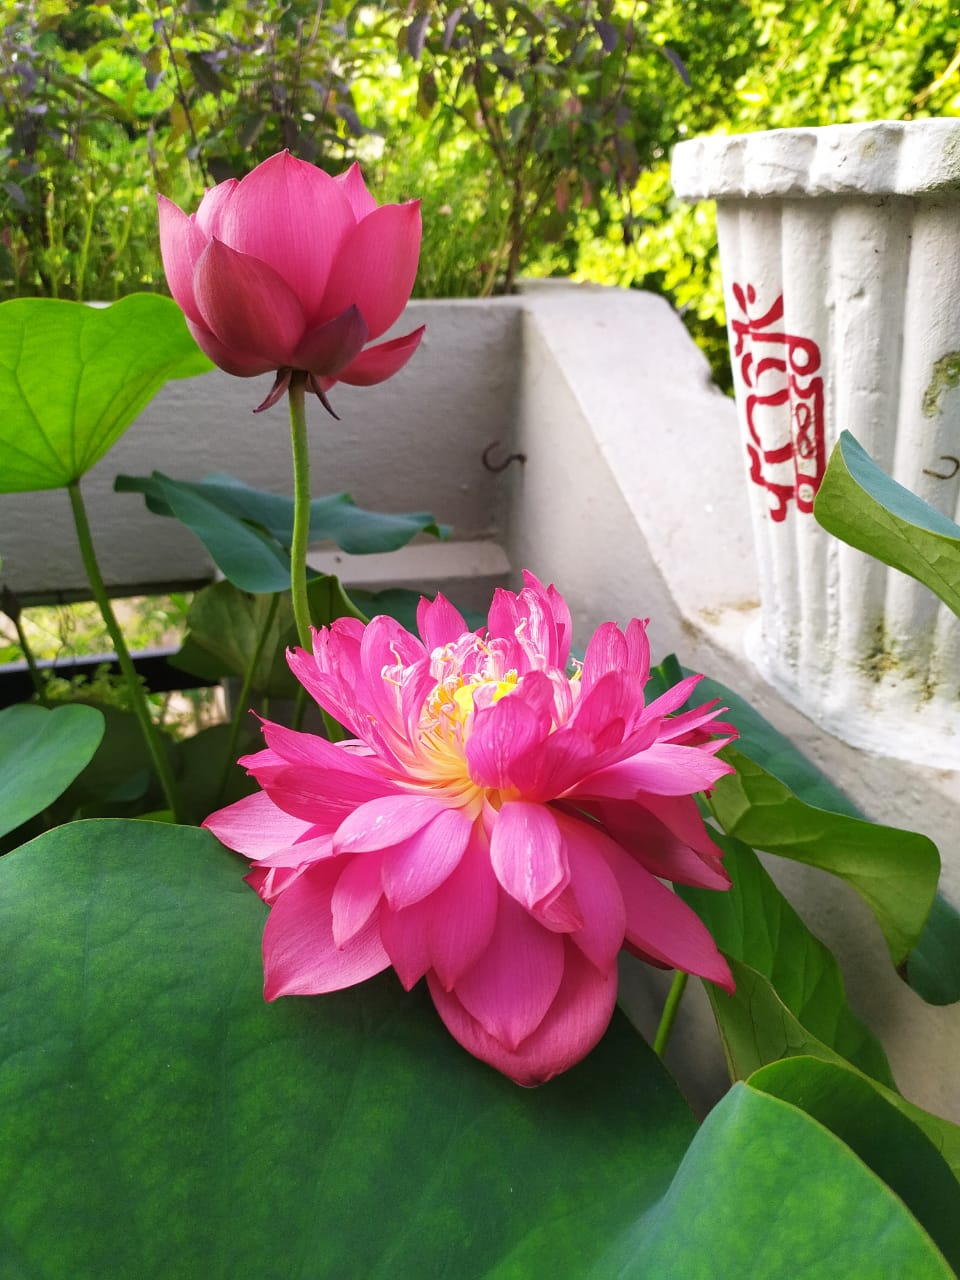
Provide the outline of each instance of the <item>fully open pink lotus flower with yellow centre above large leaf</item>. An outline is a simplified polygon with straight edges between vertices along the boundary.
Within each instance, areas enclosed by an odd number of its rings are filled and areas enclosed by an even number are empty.
[[[645,623],[607,622],[567,675],[570,612],[531,573],[479,634],[442,595],[398,622],[340,618],[291,668],[356,735],[265,723],[262,791],[207,818],[271,911],[264,993],[338,991],[393,965],[471,1053],[520,1084],[603,1034],[622,946],[732,991],[664,879],[727,888],[694,792],[730,765],[713,704],[646,704]]]

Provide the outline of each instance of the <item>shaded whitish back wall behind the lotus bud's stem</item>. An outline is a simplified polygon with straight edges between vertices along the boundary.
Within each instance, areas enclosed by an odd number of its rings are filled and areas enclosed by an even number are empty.
[[[516,419],[520,306],[516,300],[411,302],[397,332],[428,317],[420,351],[396,378],[333,389],[339,422],[311,397],[312,492],[346,489],[378,511],[433,511],[456,525],[461,540],[489,538],[503,524],[502,485],[481,456],[493,440],[509,442]],[[214,576],[192,534],[151,515],[140,494],[113,492],[118,474],[159,470],[200,480],[225,471],[261,489],[292,492],[285,404],[251,412],[269,387],[269,376],[219,370],[168,383],[84,477],[104,577],[118,594]],[[65,493],[0,494],[0,556],[3,580],[24,600],[82,590]]]

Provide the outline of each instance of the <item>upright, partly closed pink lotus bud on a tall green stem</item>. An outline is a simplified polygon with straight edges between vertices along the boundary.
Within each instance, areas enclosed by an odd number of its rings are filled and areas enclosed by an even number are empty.
[[[239,378],[276,370],[259,410],[294,370],[324,404],[334,381],[367,387],[410,360],[424,326],[362,349],[397,320],[420,257],[420,201],[381,205],[358,165],[338,178],[271,156],[206,192],[189,218],[165,196],[166,282],[206,355]]]

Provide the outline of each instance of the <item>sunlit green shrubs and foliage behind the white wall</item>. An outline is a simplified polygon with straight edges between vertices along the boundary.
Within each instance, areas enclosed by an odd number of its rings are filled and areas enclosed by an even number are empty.
[[[649,288],[721,379],[704,132],[960,114],[943,0],[0,0],[0,297],[164,289],[154,193],[186,207],[280,147],[424,198],[417,292],[516,274]]]

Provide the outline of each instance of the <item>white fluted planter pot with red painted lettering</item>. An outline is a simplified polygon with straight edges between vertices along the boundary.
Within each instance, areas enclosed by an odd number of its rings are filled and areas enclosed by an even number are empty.
[[[750,652],[812,719],[957,767],[960,622],[812,515],[849,429],[908,489],[960,502],[960,119],[684,142],[716,200],[762,617]]]

